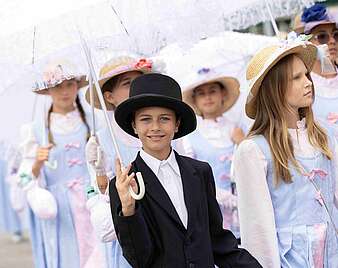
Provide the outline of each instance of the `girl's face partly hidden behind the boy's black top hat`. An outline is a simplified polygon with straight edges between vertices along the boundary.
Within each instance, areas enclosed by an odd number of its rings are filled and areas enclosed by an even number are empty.
[[[140,75],[142,75],[142,73],[137,71],[121,74],[116,86],[111,88],[110,91],[106,91],[104,93],[105,99],[115,107],[118,106],[121,102],[128,99],[130,84],[136,77],[139,77]]]

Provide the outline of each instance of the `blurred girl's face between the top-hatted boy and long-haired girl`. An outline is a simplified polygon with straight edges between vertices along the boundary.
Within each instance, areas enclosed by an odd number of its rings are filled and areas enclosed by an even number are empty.
[[[218,83],[203,84],[194,89],[195,105],[204,118],[216,118],[222,113],[224,94]]]

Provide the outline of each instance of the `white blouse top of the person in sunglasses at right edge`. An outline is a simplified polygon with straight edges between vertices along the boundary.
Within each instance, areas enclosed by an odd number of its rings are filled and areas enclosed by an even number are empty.
[[[325,78],[314,72],[311,73],[316,95],[324,98],[338,97],[338,75]]]

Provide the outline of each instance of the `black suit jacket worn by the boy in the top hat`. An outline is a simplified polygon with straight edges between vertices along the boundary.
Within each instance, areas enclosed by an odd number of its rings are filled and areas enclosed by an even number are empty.
[[[183,226],[156,175],[138,154],[132,163],[142,173],[146,194],[136,202],[135,214],[123,217],[115,179],[109,186],[115,231],[124,257],[135,268],[261,267],[234,235],[223,229],[209,164],[176,153],[188,227]]]

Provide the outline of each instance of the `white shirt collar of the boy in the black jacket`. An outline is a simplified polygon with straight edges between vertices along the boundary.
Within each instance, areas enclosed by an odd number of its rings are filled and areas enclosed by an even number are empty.
[[[158,176],[160,167],[165,164],[169,164],[170,167],[174,170],[174,172],[178,176],[180,176],[181,174],[178,163],[176,161],[174,150],[171,150],[168,158],[162,161],[146,153],[143,149],[141,149],[140,151],[140,156],[143,159],[143,161],[147,164],[147,166],[154,172],[156,176]]]

